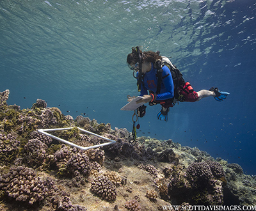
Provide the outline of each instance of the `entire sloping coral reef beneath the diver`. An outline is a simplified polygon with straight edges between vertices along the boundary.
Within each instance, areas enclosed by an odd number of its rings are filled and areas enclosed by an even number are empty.
[[[168,205],[255,205],[256,181],[238,164],[173,143],[65,116],[36,100],[8,105],[0,92],[0,210],[163,210]],[[77,127],[116,141],[79,150],[38,129],[73,127],[54,136],[81,146],[103,143]]]

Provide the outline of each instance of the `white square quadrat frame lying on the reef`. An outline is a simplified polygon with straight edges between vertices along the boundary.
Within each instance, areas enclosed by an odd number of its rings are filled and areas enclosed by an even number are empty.
[[[80,131],[83,131],[83,132],[87,133],[87,134],[91,134],[91,135],[93,135],[93,136],[100,137],[100,138],[105,139],[105,140],[107,140],[107,141],[109,141],[109,142],[108,142],[108,143],[102,143],[102,144],[100,144],[100,145],[93,145],[93,146],[84,147],[84,146],[76,145],[76,144],[74,144],[74,143],[72,143],[72,142],[70,142],[70,141],[67,141],[67,140],[65,140],[65,139],[61,139],[60,137],[53,136],[52,134],[47,133],[48,131],[70,130],[70,129],[73,129],[73,128],[74,128],[74,127],[65,127],[65,128],[59,128],[59,129],[39,129],[38,132],[40,132],[40,133],[42,133],[42,134],[45,134],[46,136],[50,136],[50,137],[52,137],[52,139],[56,139],[56,140],[61,141],[61,142],[65,143],[65,144],[67,144],[67,145],[70,145],[70,146],[74,146],[74,147],[76,147],[76,148],[79,148],[80,150],[90,150],[90,149],[92,149],[92,148],[98,148],[98,147],[100,147],[100,146],[113,145],[113,144],[116,143],[116,141],[114,141],[114,140],[112,140],[112,139],[108,139],[107,137],[103,137],[103,136],[100,136],[100,135],[98,135],[98,134],[94,134],[93,132],[90,132],[90,131],[88,131],[88,130],[81,129],[81,128],[79,128],[79,127],[76,127],[76,128],[79,129]]]

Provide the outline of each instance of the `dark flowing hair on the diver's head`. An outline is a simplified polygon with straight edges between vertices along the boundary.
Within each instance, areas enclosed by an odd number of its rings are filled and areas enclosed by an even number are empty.
[[[159,52],[154,52],[154,51],[142,52],[140,50],[140,54],[142,55],[142,63],[143,62],[152,62],[154,64],[158,59],[162,59],[162,57],[159,56]],[[137,62],[140,62],[140,58],[138,57],[136,47],[132,47],[131,54],[128,54],[128,56],[127,56],[127,63],[129,65],[131,65],[131,64],[135,64]]]

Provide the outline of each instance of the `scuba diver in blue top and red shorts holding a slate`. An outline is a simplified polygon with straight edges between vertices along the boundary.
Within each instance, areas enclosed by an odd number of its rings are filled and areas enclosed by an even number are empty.
[[[228,92],[214,87],[210,90],[194,91],[191,84],[184,81],[180,70],[170,59],[160,56],[159,53],[159,51],[142,52],[137,46],[132,47],[131,54],[127,56],[127,63],[134,71],[133,76],[137,79],[138,91],[143,97],[137,103],[160,104],[162,108],[157,114],[158,120],[168,121],[170,107],[176,102],[196,102],[210,96],[221,102],[229,95]],[[132,98],[134,97],[128,98],[128,101]],[[145,115],[146,107],[145,105],[138,107],[139,117]]]

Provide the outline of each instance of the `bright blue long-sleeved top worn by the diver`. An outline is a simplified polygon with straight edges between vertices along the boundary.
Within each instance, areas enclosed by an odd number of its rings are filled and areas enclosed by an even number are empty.
[[[161,82],[161,90],[158,95],[156,95],[156,100],[167,100],[173,98],[173,79],[172,74],[167,66],[163,66],[162,72],[162,82]],[[140,96],[148,95],[148,90],[156,93],[157,90],[157,77],[156,77],[157,69],[154,68],[153,63],[151,63],[150,72],[146,72],[142,81],[144,86],[141,84]],[[138,77],[138,72],[137,72]]]

